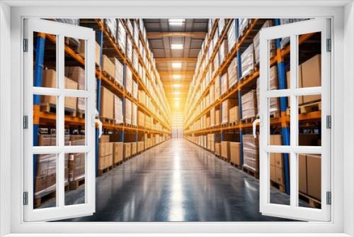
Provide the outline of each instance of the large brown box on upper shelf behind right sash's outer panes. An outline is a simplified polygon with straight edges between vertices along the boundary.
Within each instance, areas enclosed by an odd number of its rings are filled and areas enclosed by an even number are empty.
[[[302,87],[321,87],[321,55],[315,55],[302,65]],[[304,96],[304,103],[320,101],[321,95]]]

